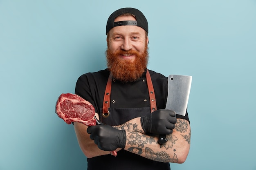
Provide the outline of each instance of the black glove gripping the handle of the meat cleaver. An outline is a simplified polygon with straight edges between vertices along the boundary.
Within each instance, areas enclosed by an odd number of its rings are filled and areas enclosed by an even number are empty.
[[[169,135],[176,124],[176,113],[173,110],[159,109],[141,117],[141,127],[146,134]]]

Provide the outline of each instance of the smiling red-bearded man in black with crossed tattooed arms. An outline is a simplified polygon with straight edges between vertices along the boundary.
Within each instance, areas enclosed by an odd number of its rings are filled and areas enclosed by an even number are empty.
[[[147,69],[148,22],[137,9],[119,9],[108,18],[106,34],[108,68],[81,75],[75,90],[101,121],[89,128],[74,122],[88,170],[170,170],[169,162],[183,163],[189,153],[190,122],[187,113],[164,109],[167,77]]]

